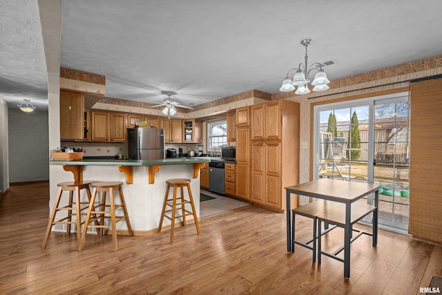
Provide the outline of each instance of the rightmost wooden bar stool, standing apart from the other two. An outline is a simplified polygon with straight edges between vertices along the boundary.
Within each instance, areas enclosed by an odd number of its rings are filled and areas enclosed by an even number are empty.
[[[196,231],[198,234],[201,234],[200,232],[200,225],[198,224],[198,218],[195,213],[195,204],[193,202],[192,197],[192,191],[190,186],[190,179],[186,178],[175,178],[175,179],[169,179],[166,180],[167,183],[167,189],[166,189],[166,195],[164,196],[164,203],[163,203],[163,209],[161,213],[160,218],[160,225],[158,226],[158,232],[160,233],[161,227],[163,224],[163,219],[168,218],[171,220],[171,243],[173,243],[173,231],[175,229],[175,219],[176,218],[182,218],[183,225],[186,225],[186,216],[193,216],[193,220],[195,220],[195,226]],[[169,189],[173,188],[173,197],[169,199]],[[187,188],[187,191],[189,191],[189,200],[184,199],[184,187]],[[181,196],[180,196],[180,202],[177,202],[177,189],[180,188],[181,190]],[[189,211],[185,208],[186,204],[191,204],[192,211]],[[171,209],[166,210],[166,206],[171,207]],[[178,208],[177,208],[178,206]],[[177,216],[176,211],[181,210],[181,215]],[[166,213],[172,213],[172,216],[166,215]]]

